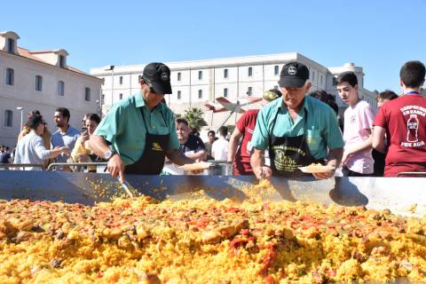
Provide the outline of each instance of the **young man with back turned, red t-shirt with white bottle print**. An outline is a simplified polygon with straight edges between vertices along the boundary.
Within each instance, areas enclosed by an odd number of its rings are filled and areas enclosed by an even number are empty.
[[[420,94],[425,73],[422,62],[406,62],[399,72],[403,95],[380,107],[375,117],[373,147],[386,153],[385,135],[389,143],[384,177],[426,172],[426,98]]]

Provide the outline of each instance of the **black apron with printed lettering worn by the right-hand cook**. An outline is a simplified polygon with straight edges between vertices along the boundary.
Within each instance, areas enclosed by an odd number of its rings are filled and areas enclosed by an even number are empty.
[[[316,160],[309,150],[306,141],[306,127],[304,134],[295,137],[276,137],[273,135],[273,128],[277,121],[277,114],[272,124],[271,138],[269,139],[269,157],[271,159],[271,169],[273,176],[280,177],[304,177],[312,176],[304,174],[299,167],[312,164],[312,162],[324,163],[323,160]],[[306,124],[307,114],[304,115]]]

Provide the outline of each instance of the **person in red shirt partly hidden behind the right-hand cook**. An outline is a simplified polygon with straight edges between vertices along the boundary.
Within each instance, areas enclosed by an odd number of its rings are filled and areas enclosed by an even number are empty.
[[[266,106],[274,99],[280,98],[281,92],[279,90],[272,89],[264,93],[264,99],[261,101],[263,106]],[[233,162],[233,175],[253,175],[253,169],[250,165],[250,151],[251,146],[250,141],[253,136],[253,131],[256,127],[256,118],[260,109],[249,109],[247,112],[241,115],[235,129],[233,130],[233,135],[229,139],[229,149],[228,149],[228,162]],[[242,141],[240,147],[238,147],[238,142],[242,136]],[[238,147],[238,149],[237,149]]]

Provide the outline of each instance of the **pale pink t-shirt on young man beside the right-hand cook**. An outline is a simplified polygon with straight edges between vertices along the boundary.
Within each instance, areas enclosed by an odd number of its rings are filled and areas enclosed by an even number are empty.
[[[360,100],[355,106],[349,106],[344,111],[344,148],[346,149],[366,140],[369,136],[367,130],[373,130],[374,120],[375,112],[367,101]],[[373,160],[371,149],[369,149],[351,155],[344,163],[344,166],[361,174],[372,174],[375,171],[374,164],[375,160]]]

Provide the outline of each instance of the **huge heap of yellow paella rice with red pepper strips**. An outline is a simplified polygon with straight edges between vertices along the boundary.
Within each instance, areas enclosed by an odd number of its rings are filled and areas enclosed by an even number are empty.
[[[426,218],[315,201],[0,203],[0,283],[426,278]]]

